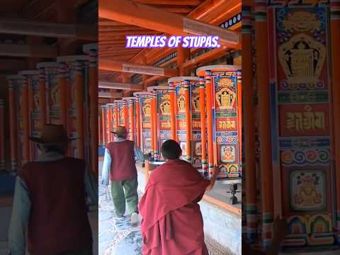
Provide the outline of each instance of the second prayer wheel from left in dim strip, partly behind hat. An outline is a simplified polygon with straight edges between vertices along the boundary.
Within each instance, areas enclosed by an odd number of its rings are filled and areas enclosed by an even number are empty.
[[[27,70],[18,73],[23,79],[23,159],[33,161],[38,157],[38,147],[30,142],[28,137],[40,136],[40,96],[39,96],[39,77],[38,70]],[[27,96],[26,96],[27,93]],[[26,102],[27,100],[27,102]]]

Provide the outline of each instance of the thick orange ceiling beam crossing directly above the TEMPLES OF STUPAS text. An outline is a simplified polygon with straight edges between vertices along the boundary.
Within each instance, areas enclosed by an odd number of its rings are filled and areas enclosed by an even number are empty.
[[[158,8],[127,0],[102,0],[98,7],[98,15],[123,23],[128,23],[143,28],[157,30],[173,35],[206,35],[213,34],[220,37],[223,45],[232,47],[239,44],[239,33],[219,28],[207,23],[183,17],[176,13],[169,13]]]

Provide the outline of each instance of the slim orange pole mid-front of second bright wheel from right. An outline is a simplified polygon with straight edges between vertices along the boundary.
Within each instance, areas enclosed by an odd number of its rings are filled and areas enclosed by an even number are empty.
[[[192,162],[191,158],[191,100],[190,100],[190,82],[184,80],[184,98],[186,100],[186,160]]]

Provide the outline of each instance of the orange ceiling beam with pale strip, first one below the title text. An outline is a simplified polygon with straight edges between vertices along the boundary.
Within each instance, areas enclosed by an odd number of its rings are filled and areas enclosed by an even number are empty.
[[[119,62],[113,60],[99,60],[99,69],[115,72],[128,72],[133,74],[159,75],[162,77],[174,77],[179,75],[175,68],[153,67],[147,64],[135,64],[131,62]]]

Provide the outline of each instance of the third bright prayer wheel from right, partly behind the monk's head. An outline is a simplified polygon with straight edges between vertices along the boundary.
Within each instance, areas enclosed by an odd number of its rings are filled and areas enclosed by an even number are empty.
[[[171,106],[169,86],[149,86],[152,94],[151,127],[152,127],[152,161],[162,161],[161,154],[163,142],[171,139]]]

